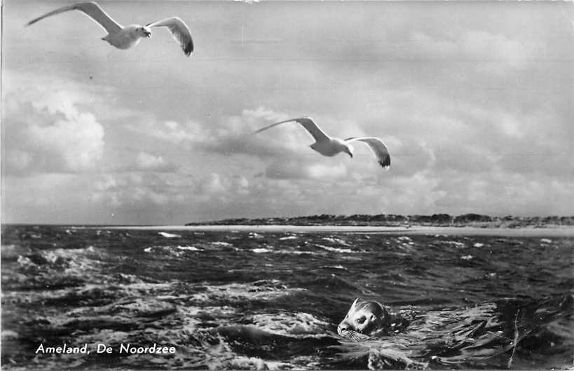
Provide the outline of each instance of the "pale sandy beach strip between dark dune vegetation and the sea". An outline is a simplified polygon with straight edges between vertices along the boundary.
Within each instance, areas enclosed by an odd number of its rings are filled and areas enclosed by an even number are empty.
[[[447,234],[474,236],[574,236],[574,226],[479,228],[479,227],[380,227],[380,226],[299,226],[299,225],[164,225],[164,226],[86,226],[75,229],[128,229],[149,231],[242,231],[256,233],[377,233],[377,234]]]

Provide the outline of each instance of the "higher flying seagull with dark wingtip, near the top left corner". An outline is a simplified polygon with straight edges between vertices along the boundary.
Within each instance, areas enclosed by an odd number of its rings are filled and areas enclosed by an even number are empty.
[[[102,37],[102,40],[109,42],[112,46],[115,46],[118,49],[131,48],[132,46],[137,45],[140,39],[151,37],[150,27],[167,27],[172,32],[174,39],[176,39],[179,42],[179,45],[182,46],[185,55],[189,57],[191,52],[193,52],[191,33],[189,32],[187,25],[181,19],[172,17],[166,18],[165,20],[159,20],[158,22],[152,22],[145,26],[122,26],[93,1],[62,6],[62,8],[57,8],[55,11],[51,11],[31,20],[27,23],[27,26],[32,25],[43,18],[50,17],[50,15],[67,11],[81,11],[82,13],[86,13],[108,32],[107,36]]]

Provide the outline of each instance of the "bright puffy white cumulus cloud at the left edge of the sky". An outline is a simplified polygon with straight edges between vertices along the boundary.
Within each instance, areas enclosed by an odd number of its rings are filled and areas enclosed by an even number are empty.
[[[6,86],[3,158],[8,174],[93,170],[104,149],[104,128],[79,106],[77,86]],[[58,90],[58,89],[61,90]]]

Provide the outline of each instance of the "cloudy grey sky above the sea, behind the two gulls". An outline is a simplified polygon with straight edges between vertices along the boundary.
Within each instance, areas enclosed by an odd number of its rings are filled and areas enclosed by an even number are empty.
[[[1,221],[184,224],[314,214],[574,215],[574,4],[6,0]],[[326,157],[297,123],[374,136]]]

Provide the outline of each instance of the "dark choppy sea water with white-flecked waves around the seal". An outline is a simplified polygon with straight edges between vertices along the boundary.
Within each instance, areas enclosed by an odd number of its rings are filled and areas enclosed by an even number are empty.
[[[574,237],[160,231],[4,226],[3,368],[573,366]],[[341,339],[355,297],[411,323]]]

